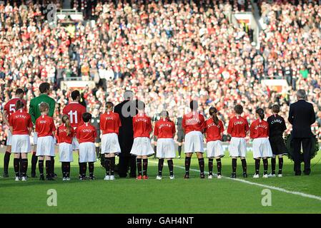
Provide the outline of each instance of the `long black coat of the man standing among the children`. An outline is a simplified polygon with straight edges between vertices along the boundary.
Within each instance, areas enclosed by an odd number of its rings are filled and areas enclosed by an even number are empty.
[[[136,105],[133,100],[124,100],[115,106],[114,112],[119,114],[122,123],[118,135],[120,149],[124,153],[129,153],[134,142],[133,116],[137,114]]]

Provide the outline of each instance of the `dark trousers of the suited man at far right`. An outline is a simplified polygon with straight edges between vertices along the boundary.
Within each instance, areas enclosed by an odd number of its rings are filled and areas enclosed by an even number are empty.
[[[303,161],[305,172],[310,172],[310,152],[312,149],[312,138],[293,138],[293,160],[295,161],[295,172],[301,172],[300,151],[303,149]]]

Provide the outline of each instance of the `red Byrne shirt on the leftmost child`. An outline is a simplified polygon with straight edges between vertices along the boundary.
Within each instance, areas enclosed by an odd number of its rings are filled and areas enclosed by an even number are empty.
[[[17,110],[11,114],[9,124],[14,130],[12,135],[29,135],[29,128],[32,128],[31,115],[25,110]]]

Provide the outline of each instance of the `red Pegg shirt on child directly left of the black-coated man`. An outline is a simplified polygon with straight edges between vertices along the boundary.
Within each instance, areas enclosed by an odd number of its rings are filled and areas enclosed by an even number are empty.
[[[119,133],[119,127],[122,126],[118,113],[106,112],[100,115],[100,130],[102,134]]]

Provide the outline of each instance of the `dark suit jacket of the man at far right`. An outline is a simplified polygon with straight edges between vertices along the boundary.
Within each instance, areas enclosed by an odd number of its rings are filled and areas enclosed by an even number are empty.
[[[293,138],[310,138],[311,125],[315,123],[315,110],[312,103],[298,100],[290,105],[289,122],[292,124]]]

